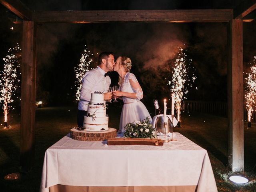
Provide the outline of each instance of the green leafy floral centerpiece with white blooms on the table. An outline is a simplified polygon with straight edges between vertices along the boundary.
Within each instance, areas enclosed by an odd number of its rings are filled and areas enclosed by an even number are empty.
[[[129,122],[124,129],[126,130],[124,133],[126,138],[157,138],[156,130],[148,117],[144,120]]]

